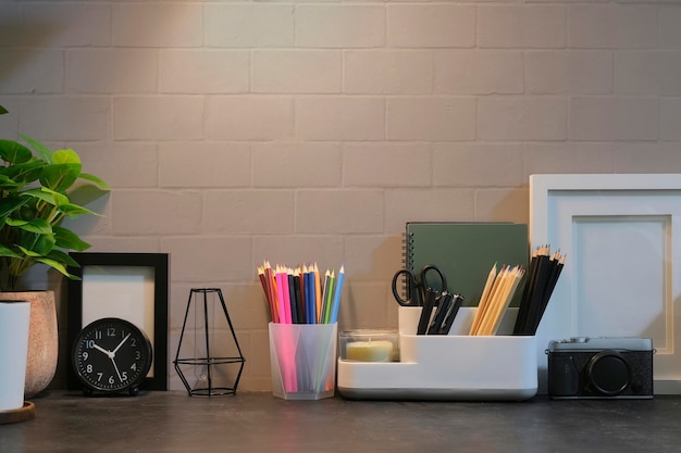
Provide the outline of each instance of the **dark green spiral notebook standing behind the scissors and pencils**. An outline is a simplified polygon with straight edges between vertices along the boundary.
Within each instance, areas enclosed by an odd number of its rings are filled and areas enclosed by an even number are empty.
[[[405,266],[418,276],[426,264],[437,265],[447,276],[449,292],[461,294],[466,306],[478,305],[495,263],[527,268],[529,256],[525,224],[407,223]],[[516,291],[510,306],[519,305],[521,292]]]

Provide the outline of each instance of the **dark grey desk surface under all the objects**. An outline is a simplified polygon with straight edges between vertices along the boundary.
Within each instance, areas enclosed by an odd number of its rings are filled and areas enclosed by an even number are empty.
[[[285,401],[271,393],[85,398],[52,390],[0,425],[0,452],[679,452],[681,398]]]

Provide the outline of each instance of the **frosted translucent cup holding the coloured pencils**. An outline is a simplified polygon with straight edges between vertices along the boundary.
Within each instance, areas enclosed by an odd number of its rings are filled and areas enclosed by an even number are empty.
[[[284,400],[334,395],[338,324],[270,323],[272,393]]]

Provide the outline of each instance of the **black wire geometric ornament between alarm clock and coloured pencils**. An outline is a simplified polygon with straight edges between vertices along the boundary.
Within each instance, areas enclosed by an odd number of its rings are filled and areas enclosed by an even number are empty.
[[[201,301],[197,302],[197,295],[203,295]],[[215,309],[215,304],[209,305],[208,295],[212,294],[214,302],[214,295],[220,299],[220,306]],[[189,334],[187,330],[187,319],[190,314],[190,307],[194,303],[194,344],[191,339],[185,337],[185,334]],[[218,325],[222,322],[220,318],[220,307],[222,307],[222,314],[227,322],[224,328],[220,328]],[[211,310],[216,313],[211,313]],[[228,326],[227,335],[226,327]],[[213,338],[211,338],[213,337]],[[227,337],[224,341],[218,341],[215,337]],[[212,340],[212,342],[211,342]],[[183,350],[183,343],[185,343],[185,350],[190,349],[190,356],[181,357]],[[187,344],[189,343],[189,344]],[[187,348],[188,345],[188,348]],[[221,356],[214,356],[214,351],[221,353]],[[234,327],[232,326],[232,319],[227,313],[227,306],[225,305],[222,291],[219,288],[191,288],[189,291],[189,300],[187,301],[187,310],[185,311],[185,319],[182,324],[182,334],[179,335],[179,343],[177,344],[177,353],[173,364],[175,370],[182,379],[189,397],[222,397],[228,394],[235,394],[236,388],[244,370],[244,354],[239,348]],[[196,383],[190,385],[187,378],[187,368],[195,370]],[[237,369],[238,368],[238,369]],[[198,372],[198,374],[197,374]]]

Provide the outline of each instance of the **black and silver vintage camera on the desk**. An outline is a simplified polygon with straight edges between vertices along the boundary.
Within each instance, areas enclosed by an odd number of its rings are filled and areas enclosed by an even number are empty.
[[[550,341],[548,395],[553,399],[653,398],[653,340],[575,337]]]

